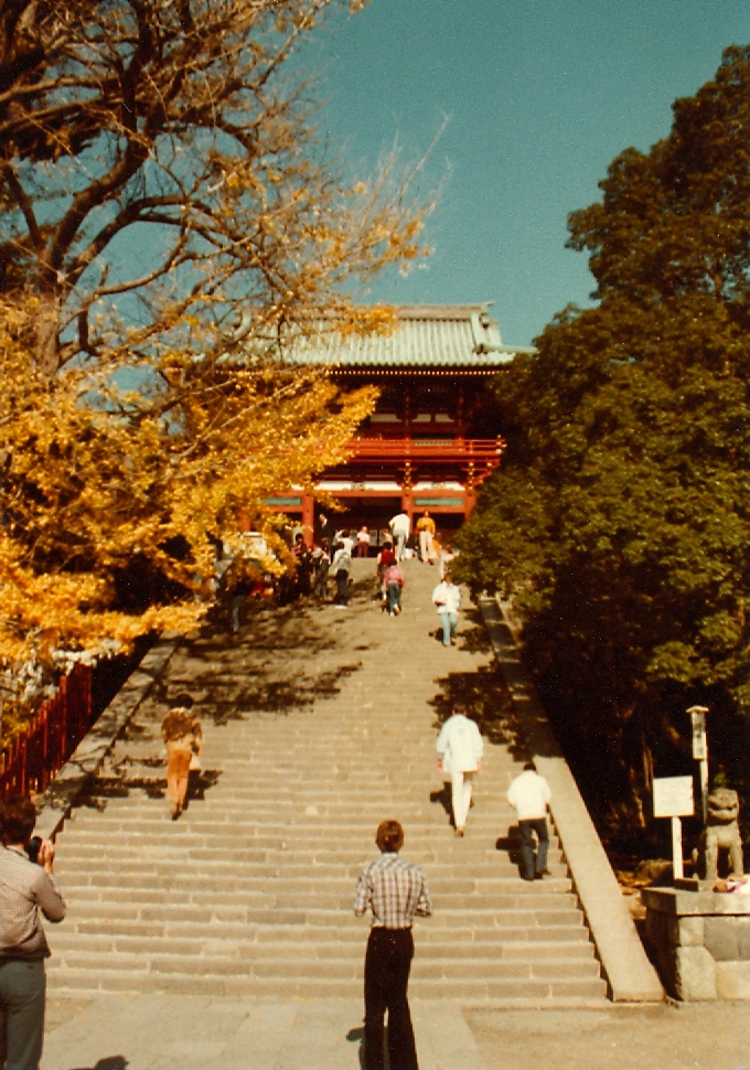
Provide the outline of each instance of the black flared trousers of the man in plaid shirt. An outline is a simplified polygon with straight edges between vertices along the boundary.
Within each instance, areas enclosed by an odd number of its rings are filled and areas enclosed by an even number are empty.
[[[371,929],[365,955],[364,1070],[383,1070],[386,1010],[390,1070],[417,1070],[417,1047],[406,996],[413,956],[410,929]]]

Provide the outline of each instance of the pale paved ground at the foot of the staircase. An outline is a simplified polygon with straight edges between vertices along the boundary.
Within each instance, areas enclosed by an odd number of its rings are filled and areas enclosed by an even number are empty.
[[[413,1001],[424,1070],[732,1070],[750,1067],[747,1004],[600,1010]],[[356,1070],[358,999],[52,999],[46,1070]]]

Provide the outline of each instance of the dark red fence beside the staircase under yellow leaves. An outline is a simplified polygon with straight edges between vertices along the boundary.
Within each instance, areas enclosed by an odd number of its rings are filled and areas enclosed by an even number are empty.
[[[44,791],[92,725],[92,670],[76,665],[0,757],[0,796]]]

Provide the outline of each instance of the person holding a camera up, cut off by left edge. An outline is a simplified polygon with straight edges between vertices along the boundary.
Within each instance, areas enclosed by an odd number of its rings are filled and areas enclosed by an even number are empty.
[[[0,1066],[38,1070],[44,1039],[44,960],[40,911],[62,921],[65,900],[52,875],[55,849],[34,837],[36,809],[15,796],[0,804]]]

